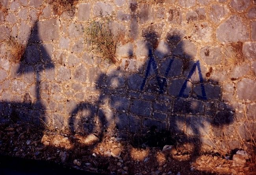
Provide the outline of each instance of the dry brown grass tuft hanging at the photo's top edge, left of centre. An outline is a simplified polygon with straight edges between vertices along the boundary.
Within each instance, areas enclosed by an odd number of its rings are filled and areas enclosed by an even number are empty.
[[[61,15],[63,12],[67,12],[68,15],[73,16],[75,13],[74,6],[78,0],[50,0],[50,4],[53,4],[53,10],[57,15]]]

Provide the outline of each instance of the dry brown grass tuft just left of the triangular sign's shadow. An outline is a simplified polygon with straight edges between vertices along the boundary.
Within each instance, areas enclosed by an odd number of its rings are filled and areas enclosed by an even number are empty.
[[[24,55],[25,46],[11,36],[7,37],[7,39],[2,39],[1,44],[6,46],[6,52],[8,54],[7,59],[13,63],[19,63]]]

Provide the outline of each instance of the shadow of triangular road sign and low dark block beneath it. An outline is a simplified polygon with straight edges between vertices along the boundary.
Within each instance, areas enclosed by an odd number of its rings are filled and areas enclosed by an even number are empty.
[[[37,22],[33,26],[32,34],[28,39],[28,44],[19,67],[13,77],[19,79],[23,75],[24,82],[17,83],[16,89],[25,90],[27,83],[30,86],[29,92],[25,92],[22,102],[15,101],[0,101],[0,121],[1,123],[24,121],[41,125],[48,123],[46,120],[46,107],[41,98],[41,76],[44,70],[53,70],[54,64],[52,58],[45,48],[45,45],[40,44],[41,39],[38,35]],[[14,99],[17,100],[17,99]]]

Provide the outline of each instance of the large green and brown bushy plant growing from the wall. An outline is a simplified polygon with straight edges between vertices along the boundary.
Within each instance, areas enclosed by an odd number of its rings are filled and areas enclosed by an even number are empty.
[[[115,50],[117,42],[124,43],[124,34],[119,33],[116,36],[113,35],[109,22],[104,20],[93,21],[85,29],[86,42],[89,48],[93,50],[96,54],[101,55],[104,59],[111,61],[112,63],[117,63],[117,58],[115,57]]]

